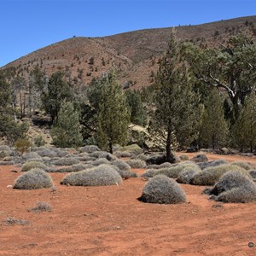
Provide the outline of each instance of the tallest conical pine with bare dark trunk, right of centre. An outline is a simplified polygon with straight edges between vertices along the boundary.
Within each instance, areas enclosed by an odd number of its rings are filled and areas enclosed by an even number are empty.
[[[166,146],[166,160],[172,162],[171,146],[188,145],[197,136],[201,119],[199,96],[192,90],[189,72],[179,58],[180,44],[172,32],[166,55],[155,78],[153,131]]]

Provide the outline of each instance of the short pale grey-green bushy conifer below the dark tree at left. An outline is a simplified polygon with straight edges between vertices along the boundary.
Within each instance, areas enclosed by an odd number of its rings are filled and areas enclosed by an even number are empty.
[[[50,131],[53,143],[60,148],[79,147],[83,143],[80,130],[79,113],[74,110],[73,103],[63,102]]]

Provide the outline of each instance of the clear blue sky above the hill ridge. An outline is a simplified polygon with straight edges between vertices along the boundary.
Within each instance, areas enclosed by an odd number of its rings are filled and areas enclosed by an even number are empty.
[[[255,0],[0,0],[0,67],[75,36],[256,15]]]

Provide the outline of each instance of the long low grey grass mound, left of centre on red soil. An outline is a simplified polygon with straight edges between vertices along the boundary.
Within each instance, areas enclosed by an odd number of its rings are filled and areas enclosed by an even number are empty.
[[[122,177],[112,166],[96,166],[89,171],[67,174],[61,184],[71,186],[109,186],[122,183]]]

